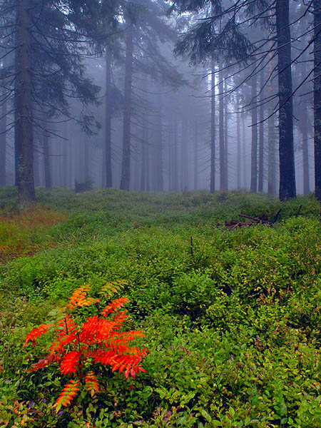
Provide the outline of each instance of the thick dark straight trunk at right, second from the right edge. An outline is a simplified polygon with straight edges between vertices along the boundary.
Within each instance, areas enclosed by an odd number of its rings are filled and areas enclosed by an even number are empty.
[[[289,0],[276,0],[277,74],[279,81],[280,200],[295,198],[293,106]]]

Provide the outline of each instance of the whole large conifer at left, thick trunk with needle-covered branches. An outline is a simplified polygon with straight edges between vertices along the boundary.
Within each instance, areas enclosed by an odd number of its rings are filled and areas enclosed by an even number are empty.
[[[86,78],[82,57],[91,54],[101,37],[103,3],[99,0],[8,0],[0,5],[1,36],[15,54],[12,84],[6,93],[14,100],[16,175],[19,205],[33,203],[34,129],[41,115],[68,111],[68,98],[85,109],[79,118],[91,131],[93,116],[86,106],[96,101],[98,87]]]

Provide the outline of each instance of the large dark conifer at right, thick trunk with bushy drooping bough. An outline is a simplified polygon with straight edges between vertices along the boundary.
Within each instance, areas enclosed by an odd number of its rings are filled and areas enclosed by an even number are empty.
[[[243,23],[248,26],[249,22],[258,24],[260,21],[265,25],[275,20],[276,36],[273,38],[277,44],[280,108],[280,199],[295,197],[289,0],[173,0],[172,3],[171,10],[180,14],[203,12],[203,19],[186,29],[176,48],[180,54],[188,54],[193,63],[212,58],[213,53],[225,65],[231,61],[244,63],[252,60],[251,52],[263,40],[248,39]],[[274,14],[271,14],[273,9]]]

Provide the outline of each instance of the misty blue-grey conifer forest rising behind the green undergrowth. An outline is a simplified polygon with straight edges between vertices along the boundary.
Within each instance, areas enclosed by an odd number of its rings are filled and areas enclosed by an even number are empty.
[[[0,185],[321,200],[321,0],[3,0]]]

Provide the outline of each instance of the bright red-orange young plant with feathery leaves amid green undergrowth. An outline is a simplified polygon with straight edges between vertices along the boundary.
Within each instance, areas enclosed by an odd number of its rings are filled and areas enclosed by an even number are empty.
[[[44,358],[28,372],[58,363],[61,374],[73,377],[56,400],[56,412],[61,406],[67,407],[81,388],[90,392],[92,397],[99,392],[99,364],[110,366],[112,372],[123,372],[125,377],[135,377],[138,372],[146,372],[140,363],[148,350],[131,346],[131,342],[136,337],[143,337],[143,333],[137,330],[123,331],[123,323],[128,315],[122,308],[128,302],[127,297],[103,305],[106,297],[110,297],[120,287],[121,282],[106,284],[99,293],[100,298],[88,297],[90,285],[78,288],[63,308],[63,317],[52,324],[41,324],[26,335],[24,347],[35,346],[36,340],[49,331],[54,330],[55,336]],[[83,320],[78,309],[92,305],[96,306],[96,315]]]

